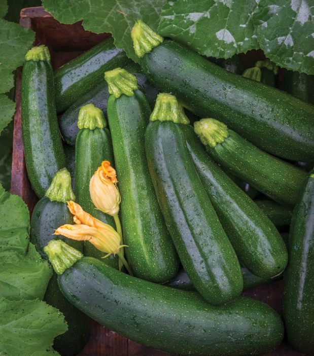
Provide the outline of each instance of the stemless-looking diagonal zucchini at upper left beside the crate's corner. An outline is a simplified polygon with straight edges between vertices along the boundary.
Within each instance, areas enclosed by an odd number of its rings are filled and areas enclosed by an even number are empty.
[[[110,38],[62,65],[54,72],[57,112],[64,112],[98,85],[103,80],[103,72],[130,61],[122,49],[116,48],[114,39]]]

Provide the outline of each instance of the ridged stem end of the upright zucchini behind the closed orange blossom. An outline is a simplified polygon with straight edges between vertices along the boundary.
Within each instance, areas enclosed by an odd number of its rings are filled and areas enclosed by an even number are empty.
[[[86,104],[81,107],[78,118],[79,129],[90,129],[104,128],[107,126],[106,119],[104,118],[103,112],[96,108],[94,104]]]

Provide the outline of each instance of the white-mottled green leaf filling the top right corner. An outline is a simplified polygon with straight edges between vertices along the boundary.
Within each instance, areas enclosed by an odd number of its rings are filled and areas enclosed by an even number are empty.
[[[312,0],[260,0],[253,17],[265,55],[281,67],[314,74]]]

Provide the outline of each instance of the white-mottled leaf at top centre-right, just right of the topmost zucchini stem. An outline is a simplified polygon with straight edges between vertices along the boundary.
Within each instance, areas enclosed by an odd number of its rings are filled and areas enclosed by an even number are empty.
[[[253,26],[256,0],[185,0],[167,2],[159,33],[205,56],[229,58],[258,48]]]

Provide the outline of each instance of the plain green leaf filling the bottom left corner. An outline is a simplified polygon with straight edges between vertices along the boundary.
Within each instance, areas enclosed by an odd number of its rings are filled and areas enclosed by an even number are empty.
[[[43,301],[0,299],[0,354],[58,355],[53,339],[66,330],[63,314]]]

